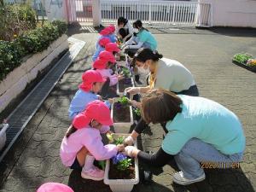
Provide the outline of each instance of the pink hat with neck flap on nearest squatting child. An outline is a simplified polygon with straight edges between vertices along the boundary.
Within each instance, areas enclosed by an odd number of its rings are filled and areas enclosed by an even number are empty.
[[[102,125],[113,125],[109,108],[99,100],[90,102],[83,112],[75,116],[72,124],[76,129],[82,129],[89,125],[92,119]]]

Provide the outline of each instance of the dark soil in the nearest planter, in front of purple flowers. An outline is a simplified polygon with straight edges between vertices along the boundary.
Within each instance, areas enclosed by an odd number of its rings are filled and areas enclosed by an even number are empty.
[[[133,179],[135,178],[135,168],[134,161],[132,162],[132,166],[129,167],[128,170],[124,172],[118,170],[116,165],[113,165],[112,160],[110,160],[110,167],[108,172],[109,179]]]

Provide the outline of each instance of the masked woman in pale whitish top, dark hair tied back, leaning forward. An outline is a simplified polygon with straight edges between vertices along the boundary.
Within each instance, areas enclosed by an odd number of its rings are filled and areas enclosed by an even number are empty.
[[[187,96],[199,96],[195,80],[189,70],[184,67],[180,62],[163,58],[157,51],[151,49],[139,49],[133,57],[133,62],[136,63],[139,73],[150,74],[148,79],[148,86],[146,87],[129,87],[126,92],[131,95],[139,93],[146,93],[148,90],[161,88],[170,90],[176,94]],[[131,101],[133,106],[140,107],[141,103]],[[162,124],[166,130],[166,126]],[[139,120],[131,137],[126,138],[132,140],[141,133],[147,124],[143,119]]]

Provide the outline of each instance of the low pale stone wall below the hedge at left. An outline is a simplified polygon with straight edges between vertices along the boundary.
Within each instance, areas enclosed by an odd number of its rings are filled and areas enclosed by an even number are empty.
[[[20,67],[9,73],[6,79],[0,83],[0,113],[22,90],[25,90],[26,84],[36,79],[38,73],[49,66],[50,62],[65,49],[68,49],[66,34],[56,39],[48,49],[29,56],[26,61],[21,63]]]

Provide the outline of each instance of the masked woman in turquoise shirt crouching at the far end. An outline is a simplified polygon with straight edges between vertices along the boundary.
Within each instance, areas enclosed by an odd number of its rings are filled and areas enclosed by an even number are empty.
[[[125,52],[128,51],[137,51],[140,48],[148,48],[155,50],[157,47],[157,42],[151,32],[148,32],[148,29],[143,27],[141,20],[136,20],[133,23],[133,36],[129,41],[122,45],[121,49],[125,49]],[[133,44],[133,43],[136,44]]]

